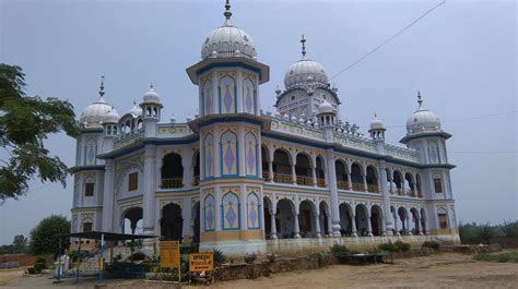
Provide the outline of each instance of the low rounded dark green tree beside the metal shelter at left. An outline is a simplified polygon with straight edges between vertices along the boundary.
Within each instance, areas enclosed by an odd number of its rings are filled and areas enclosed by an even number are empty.
[[[30,248],[34,255],[51,253],[56,254],[59,240],[56,234],[69,233],[70,221],[61,215],[51,215],[44,218],[31,230]],[[69,246],[69,239],[62,239],[61,248]]]

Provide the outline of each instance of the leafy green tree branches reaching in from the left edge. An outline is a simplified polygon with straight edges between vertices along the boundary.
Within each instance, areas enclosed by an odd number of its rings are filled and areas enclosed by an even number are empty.
[[[25,74],[16,65],[0,63],[0,200],[17,198],[36,176],[42,182],[66,185],[67,166],[49,156],[44,140],[66,132],[76,137],[80,124],[70,103],[49,97],[26,96]]]

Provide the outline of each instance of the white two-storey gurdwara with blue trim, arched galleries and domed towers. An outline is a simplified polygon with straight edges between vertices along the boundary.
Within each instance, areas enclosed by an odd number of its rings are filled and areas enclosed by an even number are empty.
[[[340,119],[340,95],[306,56],[287,68],[275,111],[261,109],[270,68],[231,22],[187,69],[199,115],[164,120],[153,86],[120,116],[87,106],[76,140],[72,232],[153,234],[227,253],[281,252],[398,239],[458,241],[446,140],[425,108],[390,144],[375,116],[366,134]],[[273,96],[272,96],[273,97]],[[109,98],[108,98],[109,99]]]

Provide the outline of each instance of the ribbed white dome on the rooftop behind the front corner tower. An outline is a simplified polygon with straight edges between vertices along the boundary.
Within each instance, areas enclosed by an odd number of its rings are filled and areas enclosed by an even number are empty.
[[[313,82],[327,85],[328,75],[322,64],[307,58],[293,63],[284,75],[284,86],[286,89]]]

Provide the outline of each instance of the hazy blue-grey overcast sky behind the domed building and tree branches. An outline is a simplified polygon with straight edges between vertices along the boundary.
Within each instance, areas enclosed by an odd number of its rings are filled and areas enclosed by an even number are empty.
[[[163,119],[197,112],[198,89],[185,69],[200,60],[207,35],[223,23],[223,0],[212,1],[8,1],[0,0],[0,62],[23,68],[27,94],[69,99],[81,110],[97,98],[120,113],[140,101],[150,82],[164,103]],[[271,68],[261,105],[274,104],[287,67],[307,56],[329,76],[354,62],[438,1],[232,1],[232,22],[252,38],[258,60]],[[388,141],[404,135],[416,93],[443,120],[448,141],[457,219],[518,219],[517,7],[515,1],[451,1],[331,82],[341,118],[364,132],[376,111]],[[504,113],[491,118],[463,118]],[[67,165],[74,140],[46,142]],[[472,154],[479,152],[483,154]],[[31,183],[28,195],[0,207],[0,242],[30,230],[50,214],[70,218],[68,186]]]

